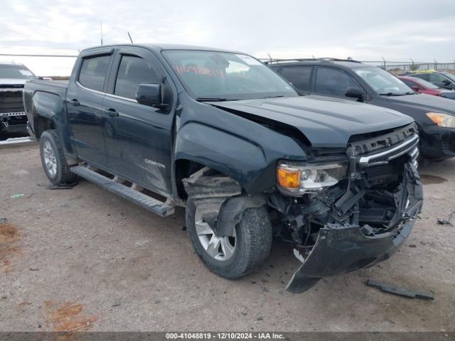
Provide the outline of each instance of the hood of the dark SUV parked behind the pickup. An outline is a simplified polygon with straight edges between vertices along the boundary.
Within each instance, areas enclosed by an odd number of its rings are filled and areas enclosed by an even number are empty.
[[[452,99],[432,96],[431,94],[389,96],[387,101],[395,104],[395,109],[397,110],[400,110],[400,106],[403,106],[415,109],[416,112],[441,112],[455,115],[455,105]]]

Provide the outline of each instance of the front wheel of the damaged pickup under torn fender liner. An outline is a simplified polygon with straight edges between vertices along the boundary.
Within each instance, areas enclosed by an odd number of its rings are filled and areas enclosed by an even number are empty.
[[[232,237],[217,237],[188,198],[186,227],[199,258],[210,271],[224,278],[251,274],[267,259],[272,247],[272,223],[266,207],[248,208]]]

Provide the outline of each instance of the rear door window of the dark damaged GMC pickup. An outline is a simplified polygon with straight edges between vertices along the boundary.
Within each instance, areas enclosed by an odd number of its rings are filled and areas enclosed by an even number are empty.
[[[110,58],[110,55],[84,58],[79,72],[80,84],[92,90],[102,91]]]

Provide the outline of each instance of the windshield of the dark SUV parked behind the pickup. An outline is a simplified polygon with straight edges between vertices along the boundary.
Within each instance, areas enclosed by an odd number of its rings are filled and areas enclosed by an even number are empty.
[[[355,67],[354,71],[378,94],[398,96],[414,93],[405,83],[380,67]]]

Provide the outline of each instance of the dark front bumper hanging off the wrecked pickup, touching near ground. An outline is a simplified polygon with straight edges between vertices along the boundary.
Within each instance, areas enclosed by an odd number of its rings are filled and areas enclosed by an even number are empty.
[[[373,266],[388,259],[410,235],[423,201],[422,183],[414,164],[405,164],[402,187],[396,195],[392,227],[380,234],[365,234],[364,226],[326,224],[313,249],[295,272],[287,290],[301,293],[321,278]],[[365,232],[365,233],[364,233]]]

